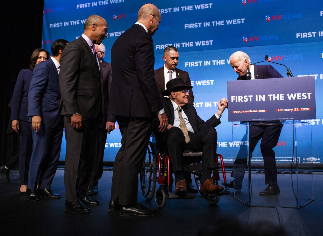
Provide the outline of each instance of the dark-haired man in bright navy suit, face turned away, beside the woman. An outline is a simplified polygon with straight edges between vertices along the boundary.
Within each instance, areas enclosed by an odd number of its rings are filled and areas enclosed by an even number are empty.
[[[37,64],[29,86],[27,117],[33,128],[33,152],[29,162],[27,199],[31,201],[40,200],[40,196],[61,197],[50,187],[63,137],[63,119],[58,113],[61,100],[58,75],[62,53],[68,43],[65,39],[53,42],[52,57]]]

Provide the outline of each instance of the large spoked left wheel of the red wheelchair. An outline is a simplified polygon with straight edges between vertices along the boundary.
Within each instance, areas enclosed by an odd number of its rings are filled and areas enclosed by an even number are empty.
[[[146,157],[142,163],[140,171],[141,191],[147,201],[151,201],[154,197],[157,178],[156,165],[157,160],[154,145],[149,141]]]

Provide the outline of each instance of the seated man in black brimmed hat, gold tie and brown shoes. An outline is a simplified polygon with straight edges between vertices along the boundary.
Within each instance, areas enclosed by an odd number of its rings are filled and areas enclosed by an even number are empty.
[[[223,186],[215,185],[211,179],[212,170],[215,168],[215,154],[217,133],[215,126],[220,124],[220,117],[227,107],[227,99],[218,102],[218,111],[206,122],[196,113],[193,105],[188,104],[189,89],[182,78],[172,79],[166,84],[166,90],[162,92],[162,103],[168,118],[167,131],[159,133],[161,145],[168,152],[172,171],[175,176],[174,193],[180,197],[187,194],[186,183],[183,174],[183,152],[203,152],[201,194],[220,193]]]

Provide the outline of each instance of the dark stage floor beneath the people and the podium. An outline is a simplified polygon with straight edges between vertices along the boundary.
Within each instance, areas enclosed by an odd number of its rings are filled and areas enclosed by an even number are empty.
[[[230,173],[227,173],[229,177]],[[261,182],[263,174],[252,174],[254,183]],[[282,176],[282,175],[280,175]],[[258,233],[267,235],[275,227],[282,227],[284,235],[323,235],[323,184],[322,173],[314,172],[314,200],[304,207],[266,208],[248,207],[230,195],[221,196],[216,205],[199,195],[191,200],[170,200],[152,217],[120,217],[118,212],[108,212],[112,171],[104,171],[99,181],[100,205],[91,207],[89,214],[72,214],[64,211],[64,169],[58,169],[52,184],[61,199],[28,201],[19,194],[18,171],[12,171],[11,182],[4,183],[0,177],[0,235],[197,235],[199,230],[220,224],[217,233],[201,235],[236,235],[232,233],[238,222],[243,230],[258,228]],[[286,175],[288,179],[288,176]],[[304,177],[303,177],[304,178]],[[312,175],[307,175],[311,182]],[[257,181],[261,179],[261,181]],[[279,181],[281,192],[290,187]],[[285,186],[286,185],[286,186]],[[308,189],[307,186],[304,188]],[[264,185],[265,188],[265,185]],[[302,187],[298,188],[302,191]],[[139,201],[147,207],[157,208],[154,200],[146,202],[141,191]],[[257,193],[254,193],[257,194]],[[266,198],[266,197],[264,197]],[[291,199],[292,200],[292,199]],[[228,228],[228,230],[224,230]],[[223,234],[227,232],[227,234]],[[241,234],[237,234],[241,235]],[[268,234],[275,235],[275,234]],[[277,235],[277,234],[276,234]]]

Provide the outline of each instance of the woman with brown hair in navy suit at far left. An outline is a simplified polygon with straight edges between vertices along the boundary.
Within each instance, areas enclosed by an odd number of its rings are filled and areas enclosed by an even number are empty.
[[[32,128],[28,123],[28,90],[32,72],[35,66],[50,58],[49,52],[45,49],[36,49],[30,57],[29,69],[20,70],[12,95],[11,103],[11,126],[19,136],[19,176],[20,193],[26,194],[29,160],[32,153],[33,138]]]

